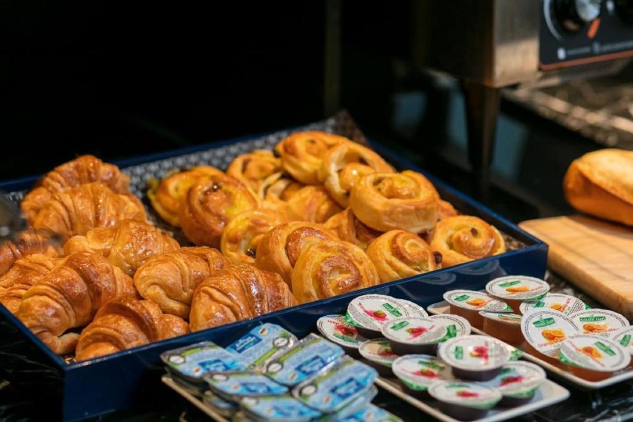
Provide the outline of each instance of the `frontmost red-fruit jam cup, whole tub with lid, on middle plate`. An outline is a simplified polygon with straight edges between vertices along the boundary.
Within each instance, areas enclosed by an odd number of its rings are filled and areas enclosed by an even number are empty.
[[[460,421],[484,418],[501,400],[496,388],[465,381],[437,381],[429,387],[429,395],[444,414]]]

